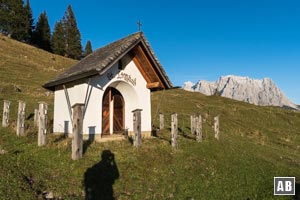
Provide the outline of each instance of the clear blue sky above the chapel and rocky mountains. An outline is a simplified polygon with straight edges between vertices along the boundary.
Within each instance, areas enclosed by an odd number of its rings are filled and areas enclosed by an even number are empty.
[[[300,1],[30,0],[51,30],[72,5],[82,44],[93,49],[138,30],[176,86],[221,75],[269,77],[300,104]]]

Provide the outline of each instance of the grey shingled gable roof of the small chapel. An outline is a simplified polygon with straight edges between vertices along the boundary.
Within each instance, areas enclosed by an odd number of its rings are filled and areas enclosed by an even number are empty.
[[[152,58],[156,62],[158,71],[162,73],[162,76],[165,79],[166,85],[168,86],[167,88],[171,88],[171,81],[166,75],[164,69],[162,68],[154,52],[152,51],[149,42],[146,40],[142,32],[131,34],[100,49],[97,49],[92,54],[83,58],[80,62],[57,76],[54,80],[51,80],[43,85],[43,87],[49,90],[54,90],[55,86],[93,76],[106,71],[121,57],[128,53],[133,47],[135,47],[139,42],[142,42],[146,46],[147,50],[149,50]]]

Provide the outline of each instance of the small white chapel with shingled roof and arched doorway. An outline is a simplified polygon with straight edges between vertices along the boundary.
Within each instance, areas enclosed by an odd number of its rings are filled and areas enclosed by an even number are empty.
[[[151,135],[151,91],[172,83],[142,32],[110,43],[67,69],[44,88],[54,92],[54,133],[72,133],[72,106],[84,104],[84,138],[133,133],[141,109],[143,137]]]

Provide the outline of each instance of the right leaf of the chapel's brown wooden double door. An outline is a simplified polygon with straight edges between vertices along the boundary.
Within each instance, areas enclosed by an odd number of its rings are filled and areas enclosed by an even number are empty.
[[[122,132],[124,131],[124,99],[121,93],[116,89],[112,90],[112,96],[114,101],[114,133]]]

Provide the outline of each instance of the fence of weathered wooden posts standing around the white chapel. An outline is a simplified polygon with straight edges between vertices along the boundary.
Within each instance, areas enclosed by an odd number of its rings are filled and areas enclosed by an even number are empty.
[[[10,109],[11,109],[11,101],[4,100],[3,105],[3,118],[2,118],[2,127],[8,127],[10,122]],[[18,113],[17,113],[17,128],[16,134],[18,136],[25,136],[25,108],[26,103],[24,101],[18,101]],[[84,105],[83,104],[75,104],[73,107],[73,138],[72,138],[72,154],[71,158],[73,160],[77,160],[82,158],[83,154],[83,112]],[[133,111],[133,146],[140,147],[142,144],[142,136],[141,136],[141,109],[136,109]],[[190,115],[190,134],[195,137],[195,141],[202,142],[203,141],[203,122],[207,123],[209,120],[207,119],[207,114],[204,115],[205,118],[203,120],[200,114]],[[38,128],[38,146],[44,146],[47,144],[47,126],[48,126],[48,104],[45,102],[39,102],[39,108],[34,109],[34,126]],[[214,137],[219,140],[220,139],[220,116],[216,116],[213,118],[213,130]],[[178,127],[178,114],[171,114],[171,146],[175,149],[178,148],[178,136],[179,130],[182,134],[186,134],[183,132],[184,129],[184,121],[182,128]],[[164,114],[159,114],[159,130],[163,130],[165,128],[165,118]]]

